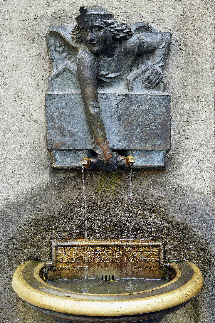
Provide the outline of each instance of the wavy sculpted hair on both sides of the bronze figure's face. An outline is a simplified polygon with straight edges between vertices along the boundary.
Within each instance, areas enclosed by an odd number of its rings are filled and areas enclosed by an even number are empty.
[[[103,22],[114,38],[123,40],[128,39],[134,35],[133,31],[131,31],[131,28],[124,23],[119,24],[115,20],[103,20]],[[73,27],[70,35],[76,43],[82,42],[82,35],[78,24]]]

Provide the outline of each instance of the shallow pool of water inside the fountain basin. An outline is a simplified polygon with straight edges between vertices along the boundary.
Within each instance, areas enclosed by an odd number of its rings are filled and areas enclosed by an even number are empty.
[[[117,280],[89,279],[54,279],[46,281],[49,285],[70,292],[91,294],[123,294],[140,292],[159,287],[169,282],[169,279],[124,278]]]

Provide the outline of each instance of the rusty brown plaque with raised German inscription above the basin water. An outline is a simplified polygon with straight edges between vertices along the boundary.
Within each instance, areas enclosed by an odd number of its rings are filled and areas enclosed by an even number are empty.
[[[48,278],[163,278],[164,241],[53,240]]]

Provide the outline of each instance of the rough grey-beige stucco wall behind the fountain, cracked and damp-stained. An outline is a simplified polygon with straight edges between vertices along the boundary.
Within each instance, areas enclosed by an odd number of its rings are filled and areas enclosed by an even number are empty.
[[[27,259],[48,259],[50,240],[84,236],[81,171],[51,172],[46,151],[45,98],[51,68],[47,29],[74,22],[67,0],[4,1],[1,4],[1,322],[51,323],[13,292],[11,277]],[[85,1],[102,5],[116,20],[146,21],[171,31],[164,74],[172,94],[172,139],[166,171],[86,171],[89,238],[167,241],[167,259],[191,260],[204,287],[187,306],[162,323],[215,322],[213,193],[213,1]]]

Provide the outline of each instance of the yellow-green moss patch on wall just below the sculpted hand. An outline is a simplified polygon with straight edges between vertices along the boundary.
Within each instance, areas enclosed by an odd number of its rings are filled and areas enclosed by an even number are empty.
[[[116,172],[109,173],[100,171],[97,173],[97,180],[95,185],[95,192],[102,191],[103,193],[116,194],[115,188],[117,186],[118,175]]]

